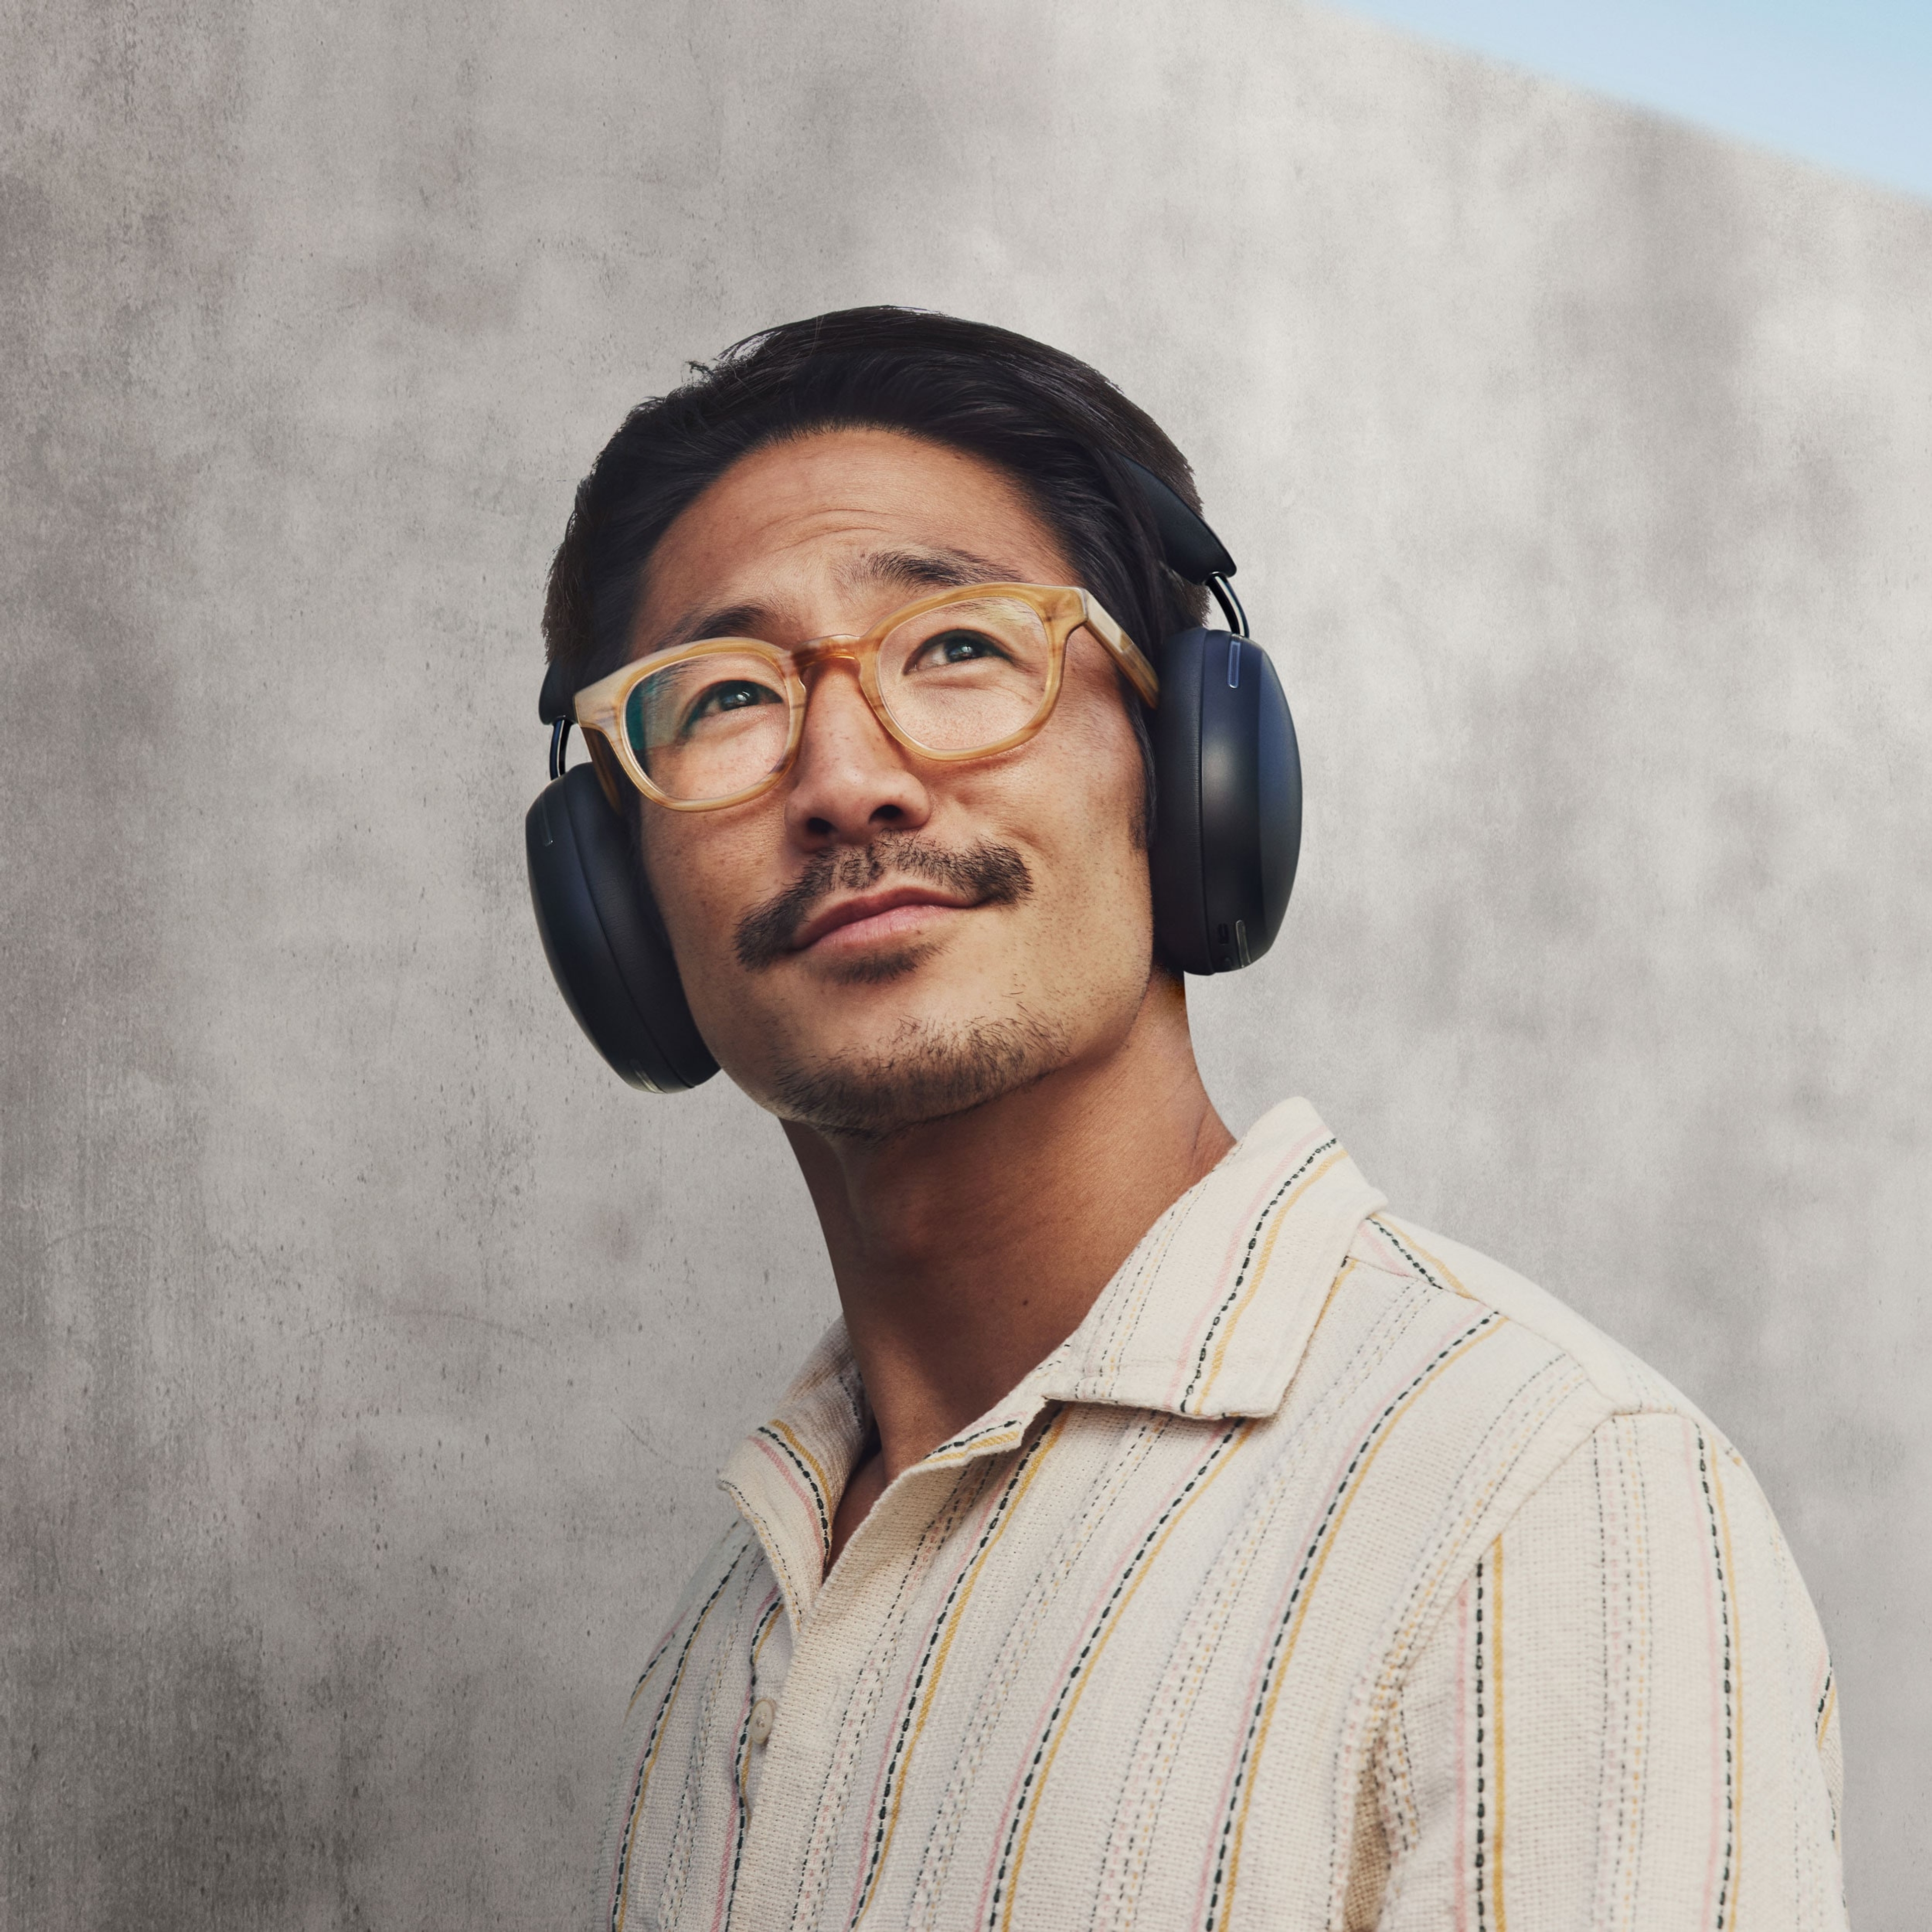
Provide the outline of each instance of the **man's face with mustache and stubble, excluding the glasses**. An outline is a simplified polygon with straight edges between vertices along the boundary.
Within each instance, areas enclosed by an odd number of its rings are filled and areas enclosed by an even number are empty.
[[[1003,471],[823,431],[742,458],[670,526],[632,657],[860,634],[951,582],[1076,578]],[[846,661],[808,688],[779,786],[721,811],[641,806],[719,1065],[782,1119],[881,1136],[1113,1051],[1148,993],[1151,906],[1140,748],[1101,645],[1074,632],[1045,728],[966,763],[895,744]]]

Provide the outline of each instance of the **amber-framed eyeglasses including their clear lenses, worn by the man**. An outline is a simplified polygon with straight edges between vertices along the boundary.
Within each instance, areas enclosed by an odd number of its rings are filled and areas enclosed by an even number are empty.
[[[835,657],[856,665],[866,703],[908,752],[991,757],[1026,744],[1053,715],[1066,639],[1080,628],[1146,703],[1159,699],[1153,667],[1088,591],[972,583],[922,597],[864,638],[788,649],[699,638],[653,651],[578,692],[578,724],[593,753],[599,738],[616,753],[645,798],[672,811],[715,811],[757,798],[790,769],[813,667]]]

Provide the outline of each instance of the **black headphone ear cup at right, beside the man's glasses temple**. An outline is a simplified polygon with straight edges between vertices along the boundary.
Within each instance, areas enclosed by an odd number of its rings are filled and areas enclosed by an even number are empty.
[[[1281,931],[1302,844],[1294,721],[1267,653],[1184,630],[1153,711],[1153,929],[1182,972],[1235,972]]]

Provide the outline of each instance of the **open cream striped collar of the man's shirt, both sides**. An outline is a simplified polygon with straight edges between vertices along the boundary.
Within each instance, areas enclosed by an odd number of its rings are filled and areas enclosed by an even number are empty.
[[[1018,1447],[1047,1403],[1271,1416],[1354,1231],[1381,1206],[1314,1107],[1283,1101],[1148,1229],[1080,1327],[918,1470]],[[765,1546],[794,1619],[817,1596],[867,1422],[852,1345],[835,1321],[779,1412],[719,1478]]]

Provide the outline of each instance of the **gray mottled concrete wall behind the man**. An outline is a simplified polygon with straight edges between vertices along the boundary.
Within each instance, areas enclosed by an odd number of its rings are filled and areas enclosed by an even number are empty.
[[[1302,724],[1244,1126],[1646,1352],[1932,1812],[1932,209],[1279,0],[0,14],[10,1926],[553,1926],[831,1306],[522,879],[626,404],[856,299],[1194,454]]]

